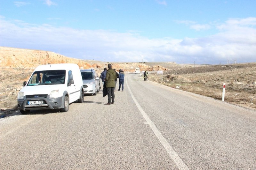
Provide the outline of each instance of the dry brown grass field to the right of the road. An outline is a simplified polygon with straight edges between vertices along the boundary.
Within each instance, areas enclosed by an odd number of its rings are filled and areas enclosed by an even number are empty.
[[[217,100],[222,99],[223,83],[226,83],[226,102],[256,110],[256,63],[168,69],[163,75],[152,72],[149,80]]]

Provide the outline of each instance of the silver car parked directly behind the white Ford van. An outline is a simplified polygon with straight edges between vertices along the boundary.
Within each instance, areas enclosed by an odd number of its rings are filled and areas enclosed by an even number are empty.
[[[101,88],[100,78],[95,70],[87,69],[80,70],[83,84],[84,84],[84,94],[96,95]]]

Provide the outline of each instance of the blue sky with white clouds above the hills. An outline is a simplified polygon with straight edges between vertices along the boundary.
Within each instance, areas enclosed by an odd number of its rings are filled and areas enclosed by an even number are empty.
[[[104,62],[256,62],[256,0],[0,0],[0,46]]]

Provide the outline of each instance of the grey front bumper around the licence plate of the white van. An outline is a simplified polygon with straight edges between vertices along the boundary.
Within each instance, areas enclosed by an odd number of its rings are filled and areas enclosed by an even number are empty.
[[[61,108],[62,106],[62,97],[57,98],[49,98],[50,95],[47,96],[47,98],[44,97],[38,97],[38,98],[25,98],[24,99],[18,99],[18,109],[19,110],[41,110],[41,109],[55,109],[55,108]],[[43,104],[37,104],[37,105],[28,105],[28,101],[43,101]]]

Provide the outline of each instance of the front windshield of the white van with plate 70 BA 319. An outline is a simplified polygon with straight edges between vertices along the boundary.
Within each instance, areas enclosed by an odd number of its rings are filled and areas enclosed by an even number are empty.
[[[35,71],[28,81],[28,86],[64,84],[65,75],[66,70]]]

